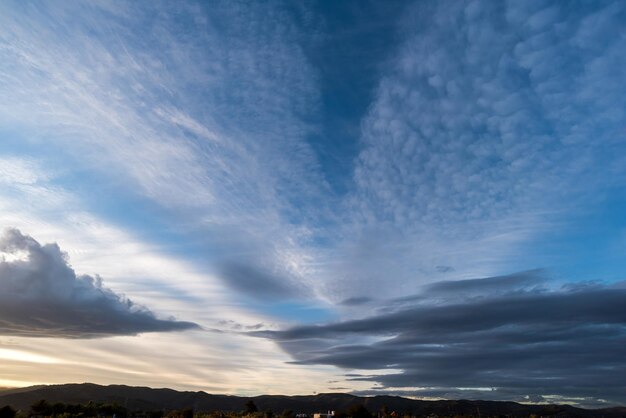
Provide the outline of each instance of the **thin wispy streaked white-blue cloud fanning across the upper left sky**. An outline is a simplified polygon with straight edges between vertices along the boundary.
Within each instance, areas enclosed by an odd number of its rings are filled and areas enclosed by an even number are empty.
[[[309,221],[328,217],[306,140],[319,95],[284,10],[105,2],[3,15],[2,118],[27,132],[14,141],[45,142],[43,158],[203,231],[216,274],[243,254],[259,274],[306,281]]]

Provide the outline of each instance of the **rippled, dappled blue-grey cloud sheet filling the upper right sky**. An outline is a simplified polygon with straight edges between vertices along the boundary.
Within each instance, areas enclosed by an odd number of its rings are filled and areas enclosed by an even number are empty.
[[[361,124],[339,300],[356,283],[393,297],[554,265],[557,251],[527,255],[626,178],[623,3],[416,1],[403,15]]]

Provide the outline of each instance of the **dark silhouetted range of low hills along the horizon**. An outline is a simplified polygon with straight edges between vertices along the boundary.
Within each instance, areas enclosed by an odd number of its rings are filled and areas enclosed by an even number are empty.
[[[0,391],[0,406],[27,411],[33,403],[45,399],[48,402],[85,404],[89,401],[117,403],[129,410],[178,410],[192,408],[196,412],[241,411],[250,399],[259,410],[313,413],[327,410],[346,410],[353,405],[365,405],[371,412],[386,406],[399,414],[416,416],[435,414],[439,416],[474,415],[528,417],[531,414],[544,417],[626,417],[626,408],[586,410],[568,405],[523,405],[515,402],[496,401],[418,401],[397,396],[358,397],[344,393],[322,393],[312,396],[263,395],[245,398],[228,395],[211,395],[206,392],[179,392],[172,389],[152,389],[124,385],[100,386],[90,383]]]

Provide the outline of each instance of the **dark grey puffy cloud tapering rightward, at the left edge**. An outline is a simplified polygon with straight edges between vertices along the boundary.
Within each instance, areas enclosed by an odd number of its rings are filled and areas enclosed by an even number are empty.
[[[57,244],[9,229],[0,253],[0,335],[97,338],[198,328],[156,318],[99,277],[77,276]]]

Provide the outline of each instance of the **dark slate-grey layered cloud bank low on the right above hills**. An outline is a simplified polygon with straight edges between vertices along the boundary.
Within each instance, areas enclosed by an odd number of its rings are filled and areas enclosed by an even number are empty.
[[[533,271],[442,282],[422,296],[364,319],[255,335],[276,341],[298,364],[401,370],[353,379],[430,388],[414,395],[626,402],[626,289],[548,289]]]

